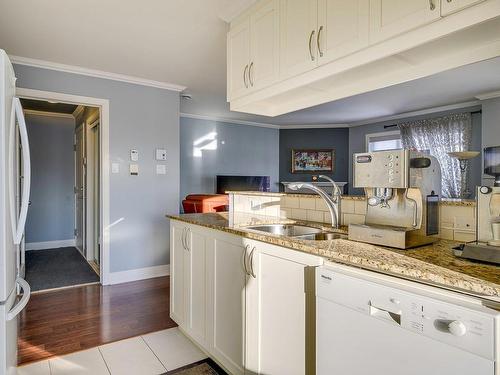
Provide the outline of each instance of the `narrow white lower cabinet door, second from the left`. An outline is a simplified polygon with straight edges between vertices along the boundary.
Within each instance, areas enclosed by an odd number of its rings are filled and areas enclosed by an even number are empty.
[[[207,273],[206,236],[196,227],[188,227],[184,252],[186,319],[183,328],[202,347],[207,344]]]

